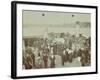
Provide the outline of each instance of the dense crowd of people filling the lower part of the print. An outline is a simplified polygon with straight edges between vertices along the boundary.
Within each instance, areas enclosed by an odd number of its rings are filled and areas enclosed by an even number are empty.
[[[55,68],[57,56],[62,67],[79,58],[81,66],[91,65],[91,37],[69,33],[48,33],[48,37],[25,38],[23,69]],[[55,61],[56,60],[56,61]]]

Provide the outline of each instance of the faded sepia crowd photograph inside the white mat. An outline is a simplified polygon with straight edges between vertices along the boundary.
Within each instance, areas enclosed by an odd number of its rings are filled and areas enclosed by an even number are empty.
[[[91,66],[91,14],[23,10],[23,69]]]

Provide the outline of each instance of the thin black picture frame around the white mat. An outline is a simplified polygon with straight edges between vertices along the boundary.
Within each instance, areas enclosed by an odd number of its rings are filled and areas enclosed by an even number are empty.
[[[91,8],[96,10],[96,70],[94,72],[83,72],[83,73],[63,73],[63,74],[50,74],[50,75],[32,75],[32,76],[17,76],[17,4],[27,5],[48,5],[48,6],[59,6],[59,7],[79,7],[79,8]],[[71,76],[71,75],[85,75],[85,74],[97,74],[98,73],[98,7],[88,5],[73,5],[73,4],[58,4],[58,3],[42,3],[42,2],[24,2],[24,1],[12,1],[11,2],[11,78],[38,78],[38,77],[54,77],[54,76]]]

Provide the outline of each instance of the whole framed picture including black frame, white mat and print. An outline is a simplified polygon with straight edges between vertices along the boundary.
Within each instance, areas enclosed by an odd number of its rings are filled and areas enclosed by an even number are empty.
[[[13,1],[11,77],[97,74],[97,6]]]

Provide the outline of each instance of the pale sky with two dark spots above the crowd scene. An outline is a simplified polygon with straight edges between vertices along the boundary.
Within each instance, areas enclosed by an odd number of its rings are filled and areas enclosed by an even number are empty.
[[[42,26],[42,25],[63,25],[72,24],[76,21],[90,22],[90,14],[69,13],[69,12],[46,12],[46,11],[28,11],[23,10],[24,26]]]

